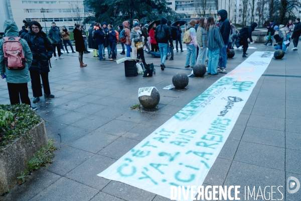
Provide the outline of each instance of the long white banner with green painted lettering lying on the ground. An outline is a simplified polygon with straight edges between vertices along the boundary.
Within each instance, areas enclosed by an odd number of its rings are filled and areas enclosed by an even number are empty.
[[[168,198],[171,185],[202,185],[272,57],[250,55],[98,176]]]

